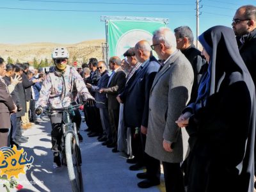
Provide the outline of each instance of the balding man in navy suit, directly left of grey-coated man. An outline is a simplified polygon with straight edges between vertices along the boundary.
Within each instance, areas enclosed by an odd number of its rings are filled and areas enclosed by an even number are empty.
[[[147,173],[138,173],[137,177],[147,180],[138,183],[138,186],[140,188],[149,188],[160,183],[159,162],[155,163],[144,152],[148,126],[149,93],[160,65],[156,58],[151,56],[150,44],[145,40],[141,40],[135,45],[135,53],[136,58],[142,64],[125,97],[127,107],[125,108],[124,116],[127,126],[139,127],[139,136],[141,137],[138,164],[131,166],[130,170],[139,170],[141,165],[145,164]]]

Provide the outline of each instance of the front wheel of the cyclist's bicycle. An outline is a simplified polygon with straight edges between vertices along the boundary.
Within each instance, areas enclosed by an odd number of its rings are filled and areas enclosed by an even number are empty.
[[[81,152],[76,144],[76,138],[71,132],[65,137],[65,152],[68,168],[68,177],[71,182],[72,191],[83,191],[83,176],[81,170]]]

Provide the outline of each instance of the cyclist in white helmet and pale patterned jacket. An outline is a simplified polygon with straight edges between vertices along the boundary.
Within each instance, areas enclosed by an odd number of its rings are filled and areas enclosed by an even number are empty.
[[[55,48],[52,52],[52,60],[54,61],[54,68],[50,72],[40,91],[40,97],[36,103],[36,113],[39,115],[42,113],[42,108],[50,106],[51,108],[65,108],[70,104],[76,104],[78,94],[81,95],[83,102],[91,104],[94,98],[88,92],[83,78],[79,75],[75,68],[69,67],[68,63],[68,51],[64,47]],[[79,132],[79,125],[81,124],[81,115],[78,109],[75,110],[74,116],[72,116],[72,122],[76,122],[77,131]],[[62,113],[53,113],[50,116],[52,131],[52,152],[54,155],[54,168],[61,166],[60,151],[61,148],[61,122]],[[79,134],[79,140],[81,135]],[[83,140],[83,138],[82,138]],[[63,156],[64,157],[64,156]],[[62,157],[62,158],[63,158]],[[65,161],[62,159],[62,162]]]

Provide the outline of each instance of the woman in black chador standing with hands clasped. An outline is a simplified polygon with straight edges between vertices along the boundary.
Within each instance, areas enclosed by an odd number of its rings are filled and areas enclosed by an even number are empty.
[[[199,41],[209,67],[177,120],[189,133],[188,192],[253,191],[255,86],[231,28],[210,28]]]

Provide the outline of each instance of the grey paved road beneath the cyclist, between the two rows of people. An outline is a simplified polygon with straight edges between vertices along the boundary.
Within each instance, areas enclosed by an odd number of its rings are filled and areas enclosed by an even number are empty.
[[[83,123],[81,129],[85,128],[86,125]],[[28,157],[33,156],[35,161],[26,175],[20,174],[20,178],[17,180],[24,188],[31,189],[31,191],[72,191],[67,167],[57,169],[52,167],[50,132],[51,124],[47,118],[42,124],[33,125],[31,129],[24,132],[24,135],[29,137],[29,141],[20,147],[28,152]],[[113,154],[111,149],[102,146],[97,138],[88,138],[84,131],[81,131],[81,134],[84,138],[80,145],[83,157],[84,191],[165,191],[163,174],[160,186],[140,189],[137,187],[140,179],[136,178],[136,173],[139,172],[129,170],[131,164],[125,163],[126,159],[121,153]],[[0,186],[0,191],[4,191],[2,186]]]

